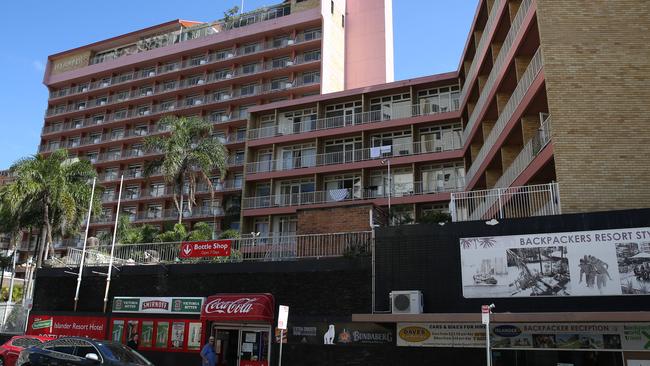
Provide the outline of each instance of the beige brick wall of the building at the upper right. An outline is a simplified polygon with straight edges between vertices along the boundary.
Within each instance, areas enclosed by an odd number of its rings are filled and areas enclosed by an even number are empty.
[[[537,3],[562,211],[650,207],[650,1]]]

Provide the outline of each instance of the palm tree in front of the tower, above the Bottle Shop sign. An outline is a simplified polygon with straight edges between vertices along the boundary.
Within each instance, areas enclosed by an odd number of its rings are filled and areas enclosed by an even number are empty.
[[[160,167],[165,182],[172,184],[174,205],[178,211],[178,223],[183,221],[183,186],[189,183],[187,208],[192,212],[196,205],[197,181],[204,181],[214,196],[209,174],[218,169],[221,178],[228,169],[228,150],[217,139],[211,138],[212,124],[199,117],[166,116],[159,122],[169,128],[166,136],[149,136],[144,139],[145,149],[158,150],[165,154],[161,159],[147,164],[145,175]]]

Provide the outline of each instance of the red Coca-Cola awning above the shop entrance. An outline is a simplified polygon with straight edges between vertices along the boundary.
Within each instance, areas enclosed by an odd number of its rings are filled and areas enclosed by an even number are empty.
[[[274,309],[271,294],[217,294],[206,300],[201,320],[272,323]]]

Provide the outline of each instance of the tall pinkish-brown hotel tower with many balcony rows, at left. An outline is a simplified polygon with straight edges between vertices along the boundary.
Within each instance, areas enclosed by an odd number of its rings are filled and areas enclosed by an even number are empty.
[[[186,222],[238,228],[248,110],[368,84],[392,81],[390,1],[287,0],[212,23],[171,21],[48,58],[50,90],[39,152],[68,149],[89,159],[105,188],[92,233],[115,219],[120,177],[121,214],[161,226],[177,213],[170,187],[147,161],[145,136],[168,133],[169,114],[200,116],[228,148],[227,178],[198,187],[198,207]],[[367,32],[368,29],[373,32]],[[384,50],[368,59],[363,50]],[[234,212],[234,215],[228,213]]]

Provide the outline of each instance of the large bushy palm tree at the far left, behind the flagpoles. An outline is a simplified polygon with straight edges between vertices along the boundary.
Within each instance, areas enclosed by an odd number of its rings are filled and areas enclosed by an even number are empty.
[[[30,207],[43,215],[40,223],[45,227],[45,245],[41,246],[37,257],[40,267],[45,248],[54,253],[53,231],[65,234],[81,226],[92,190],[89,180],[96,172],[89,161],[70,159],[66,150],[21,159],[10,171],[14,181],[4,188],[6,202],[11,202],[14,210]],[[101,188],[96,190],[101,191]],[[95,194],[95,213],[101,207],[100,196],[101,192]]]

